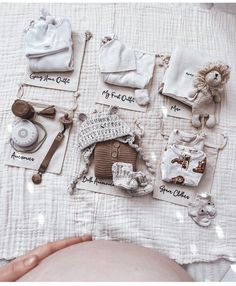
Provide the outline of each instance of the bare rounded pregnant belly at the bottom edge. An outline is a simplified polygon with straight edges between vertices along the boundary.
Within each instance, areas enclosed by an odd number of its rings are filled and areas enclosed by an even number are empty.
[[[115,241],[70,246],[44,259],[18,281],[192,281],[158,251]]]

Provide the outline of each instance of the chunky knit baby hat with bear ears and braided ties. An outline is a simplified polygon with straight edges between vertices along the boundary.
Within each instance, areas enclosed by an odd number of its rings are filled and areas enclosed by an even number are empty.
[[[143,153],[142,148],[135,144],[135,132],[116,113],[118,107],[111,106],[108,112],[94,112],[87,116],[79,114],[81,125],[78,134],[78,147],[81,151],[85,166],[78,176],[75,176],[70,184],[69,193],[73,194],[78,181],[88,173],[90,157],[94,151],[96,143],[116,139],[122,143],[129,144],[134,148],[145,162],[150,173],[155,173],[149,159]]]

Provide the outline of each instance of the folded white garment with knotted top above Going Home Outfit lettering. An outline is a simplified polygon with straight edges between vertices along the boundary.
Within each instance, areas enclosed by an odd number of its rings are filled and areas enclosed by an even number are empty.
[[[45,10],[25,31],[25,55],[33,72],[73,70],[72,31],[68,19],[55,19]]]

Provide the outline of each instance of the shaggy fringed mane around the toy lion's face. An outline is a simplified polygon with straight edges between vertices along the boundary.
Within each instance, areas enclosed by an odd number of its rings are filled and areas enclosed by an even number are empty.
[[[206,83],[206,75],[211,71],[218,71],[221,75],[221,83],[216,87],[211,87]],[[194,79],[194,86],[200,90],[221,89],[229,80],[230,68],[221,62],[209,63],[199,69]]]

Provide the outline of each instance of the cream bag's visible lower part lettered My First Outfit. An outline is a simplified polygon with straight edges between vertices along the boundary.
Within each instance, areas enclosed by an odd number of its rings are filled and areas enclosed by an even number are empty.
[[[134,89],[106,84],[100,79],[96,103],[116,105],[120,108],[146,112],[147,106],[140,106],[134,98]]]

